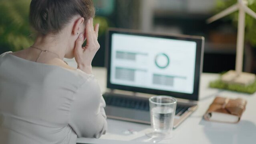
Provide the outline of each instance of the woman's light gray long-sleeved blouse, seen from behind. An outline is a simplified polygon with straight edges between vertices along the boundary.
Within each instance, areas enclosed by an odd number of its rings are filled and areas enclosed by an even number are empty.
[[[75,144],[107,129],[97,80],[81,70],[0,55],[0,144]]]

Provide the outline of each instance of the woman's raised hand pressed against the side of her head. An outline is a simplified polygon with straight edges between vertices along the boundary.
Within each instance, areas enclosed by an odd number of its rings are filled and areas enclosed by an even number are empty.
[[[90,18],[85,26],[85,38],[87,39],[86,46],[82,47],[84,35],[80,34],[75,44],[75,60],[77,68],[83,70],[87,74],[92,74],[91,62],[99,50],[98,42],[99,24],[93,28],[93,18]]]

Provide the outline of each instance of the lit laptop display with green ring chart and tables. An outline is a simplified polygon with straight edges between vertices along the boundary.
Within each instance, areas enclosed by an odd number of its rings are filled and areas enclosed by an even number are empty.
[[[110,36],[110,84],[194,93],[196,41],[118,32]]]

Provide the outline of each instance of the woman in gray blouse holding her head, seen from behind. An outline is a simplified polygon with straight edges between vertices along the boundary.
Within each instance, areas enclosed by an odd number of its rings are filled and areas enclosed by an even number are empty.
[[[0,144],[75,144],[105,134],[91,67],[100,47],[94,13],[91,0],[31,1],[34,44],[0,55]],[[73,57],[77,69],[63,61]]]

